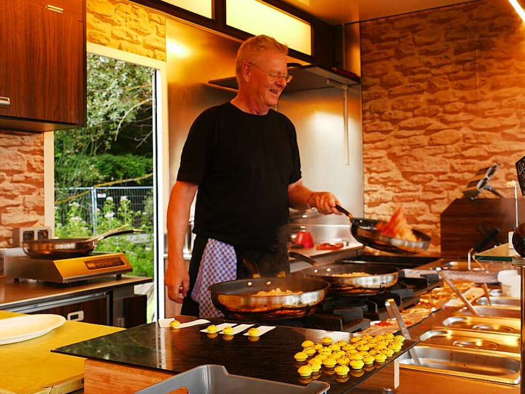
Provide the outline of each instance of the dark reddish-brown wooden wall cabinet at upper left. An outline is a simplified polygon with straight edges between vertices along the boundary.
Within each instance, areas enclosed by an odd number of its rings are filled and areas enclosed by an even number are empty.
[[[86,123],[83,0],[0,0],[0,129]]]

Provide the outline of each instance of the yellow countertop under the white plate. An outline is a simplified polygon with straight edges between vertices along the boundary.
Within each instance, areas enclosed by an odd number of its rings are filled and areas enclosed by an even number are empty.
[[[14,316],[22,315],[0,310],[0,319]],[[84,359],[50,350],[121,330],[123,328],[68,321],[41,337],[0,345],[0,365],[3,368],[0,392],[49,394],[82,388]]]

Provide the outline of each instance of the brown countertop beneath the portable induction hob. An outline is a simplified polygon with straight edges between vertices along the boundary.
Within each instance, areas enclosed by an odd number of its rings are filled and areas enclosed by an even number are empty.
[[[115,277],[101,277],[92,279],[74,286],[61,286],[37,282],[33,279],[20,279],[15,283],[11,277],[0,277],[0,309],[34,304],[51,299],[68,298],[92,294],[100,291],[109,291],[114,288],[140,285],[149,283],[153,279],[147,276],[122,275]]]

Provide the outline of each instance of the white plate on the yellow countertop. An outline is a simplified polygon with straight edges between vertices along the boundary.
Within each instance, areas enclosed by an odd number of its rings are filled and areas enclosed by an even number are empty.
[[[60,327],[66,318],[60,315],[39,314],[0,319],[0,345],[14,344],[40,337]]]

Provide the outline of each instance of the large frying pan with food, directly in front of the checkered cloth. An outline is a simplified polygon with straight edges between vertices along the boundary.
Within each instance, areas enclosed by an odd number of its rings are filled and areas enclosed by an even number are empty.
[[[254,296],[279,287],[301,294]],[[310,278],[253,278],[216,283],[208,287],[213,305],[225,316],[240,319],[297,318],[316,312],[329,284]]]

